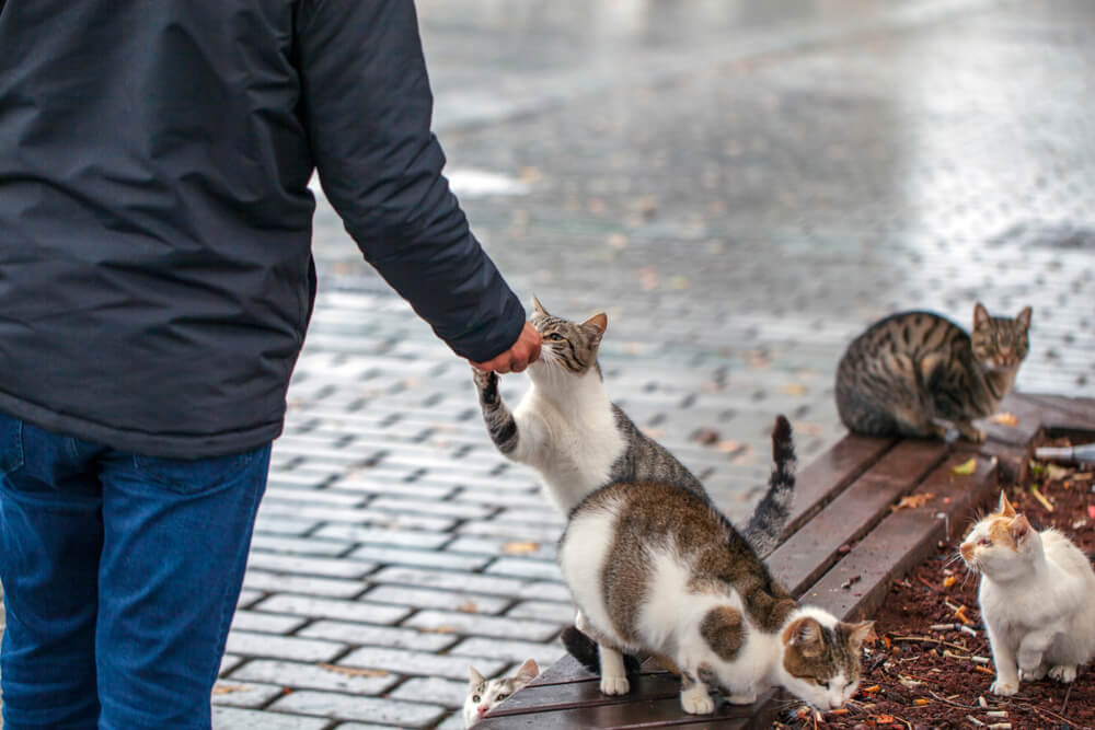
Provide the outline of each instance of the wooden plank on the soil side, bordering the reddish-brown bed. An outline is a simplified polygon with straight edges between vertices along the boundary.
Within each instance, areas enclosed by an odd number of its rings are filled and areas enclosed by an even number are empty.
[[[872,615],[892,579],[934,553],[941,540],[961,535],[977,507],[996,493],[992,459],[979,459],[969,476],[952,474],[952,467],[968,457],[956,452],[935,468],[912,493],[932,498],[923,507],[899,509],[886,517],[806,591],[804,603],[848,621]]]

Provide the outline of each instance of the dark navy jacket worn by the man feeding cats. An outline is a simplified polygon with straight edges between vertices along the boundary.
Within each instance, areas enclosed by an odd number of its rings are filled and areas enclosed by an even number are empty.
[[[276,437],[313,170],[457,354],[516,341],[523,309],[440,174],[411,0],[0,9],[0,412],[153,456]]]

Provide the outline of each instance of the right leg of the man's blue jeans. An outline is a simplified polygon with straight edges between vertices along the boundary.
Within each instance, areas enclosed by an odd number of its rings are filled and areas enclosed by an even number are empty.
[[[268,468],[269,445],[197,461],[117,452],[104,461],[102,730],[210,727]]]

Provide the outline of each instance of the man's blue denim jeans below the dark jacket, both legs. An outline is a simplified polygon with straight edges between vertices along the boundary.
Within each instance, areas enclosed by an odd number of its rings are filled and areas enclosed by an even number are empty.
[[[269,444],[183,461],[0,414],[4,730],[210,727]]]

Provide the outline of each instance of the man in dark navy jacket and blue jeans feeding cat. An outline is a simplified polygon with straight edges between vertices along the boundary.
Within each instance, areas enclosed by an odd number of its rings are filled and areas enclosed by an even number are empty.
[[[209,727],[315,294],[313,171],[458,355],[537,358],[431,103],[411,0],[0,0],[8,730]]]

